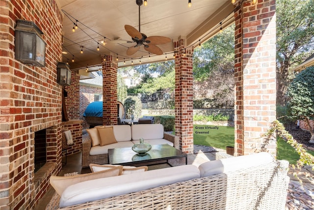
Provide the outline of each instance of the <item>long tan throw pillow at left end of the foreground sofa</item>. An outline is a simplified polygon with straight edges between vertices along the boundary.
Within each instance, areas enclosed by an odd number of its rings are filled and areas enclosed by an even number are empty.
[[[61,196],[63,191],[70,185],[76,184],[78,182],[87,180],[96,180],[105,177],[115,177],[122,174],[123,166],[107,168],[107,170],[88,173],[88,174],[78,174],[70,177],[59,177],[51,176],[50,184],[55,189],[55,191]]]

